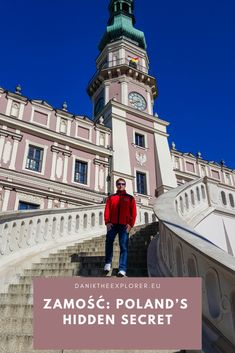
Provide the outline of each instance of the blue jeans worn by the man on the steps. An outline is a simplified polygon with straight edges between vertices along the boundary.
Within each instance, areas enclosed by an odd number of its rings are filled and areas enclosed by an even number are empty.
[[[113,224],[112,228],[106,234],[105,242],[105,263],[111,264],[113,258],[113,242],[118,233],[120,257],[119,257],[119,271],[127,271],[128,261],[128,242],[129,234],[124,224]]]

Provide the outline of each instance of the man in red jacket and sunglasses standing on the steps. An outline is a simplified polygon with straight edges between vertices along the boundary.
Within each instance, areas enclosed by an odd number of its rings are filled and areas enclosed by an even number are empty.
[[[136,202],[133,196],[127,194],[124,179],[119,178],[116,181],[116,186],[116,194],[108,197],[104,211],[104,220],[107,226],[104,271],[107,274],[111,269],[113,242],[118,233],[120,246],[118,277],[125,277],[128,262],[129,233],[136,220]]]

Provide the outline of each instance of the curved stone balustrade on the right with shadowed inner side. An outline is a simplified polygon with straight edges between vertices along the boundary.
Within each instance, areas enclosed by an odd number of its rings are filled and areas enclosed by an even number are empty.
[[[208,178],[194,180],[161,195],[154,211],[159,219],[155,253],[149,251],[152,276],[201,277],[204,352],[235,352],[235,258],[213,245],[191,224],[201,213],[218,210],[232,188]],[[230,197],[231,198],[231,197]],[[223,212],[225,209],[223,207]],[[234,214],[235,215],[235,214]],[[209,343],[210,344],[209,344]]]

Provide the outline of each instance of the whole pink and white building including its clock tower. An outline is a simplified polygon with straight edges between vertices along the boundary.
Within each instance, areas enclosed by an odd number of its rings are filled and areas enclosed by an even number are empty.
[[[0,211],[102,203],[119,177],[150,208],[194,178],[235,185],[233,170],[169,148],[169,123],[153,114],[156,79],[133,1],[111,0],[109,11],[87,87],[91,118],[24,97],[19,86],[0,88]]]

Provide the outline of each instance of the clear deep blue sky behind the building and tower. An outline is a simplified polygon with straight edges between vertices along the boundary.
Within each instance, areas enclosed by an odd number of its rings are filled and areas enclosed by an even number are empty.
[[[108,20],[108,0],[0,0],[0,86],[31,99],[64,100],[91,116],[86,86]],[[136,0],[145,32],[155,111],[169,141],[235,168],[235,1]]]

